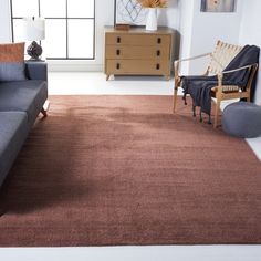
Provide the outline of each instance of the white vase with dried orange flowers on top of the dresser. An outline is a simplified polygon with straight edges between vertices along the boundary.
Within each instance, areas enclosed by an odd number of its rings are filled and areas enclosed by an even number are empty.
[[[146,30],[156,31],[158,27],[157,22],[157,9],[166,8],[166,0],[138,0],[143,8],[148,9],[147,21],[146,21]]]

